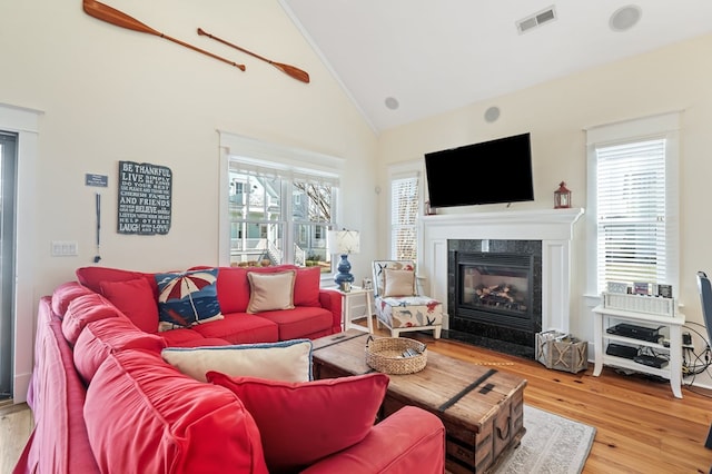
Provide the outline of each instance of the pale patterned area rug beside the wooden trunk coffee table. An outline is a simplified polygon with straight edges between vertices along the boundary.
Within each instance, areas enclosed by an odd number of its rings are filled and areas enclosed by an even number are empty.
[[[496,474],[581,473],[596,428],[524,405],[522,443],[502,460]]]

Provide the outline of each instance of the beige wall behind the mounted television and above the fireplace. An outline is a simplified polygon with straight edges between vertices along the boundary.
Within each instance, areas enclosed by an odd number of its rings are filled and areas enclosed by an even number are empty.
[[[712,62],[704,59],[711,52],[712,36],[706,36],[389,130],[378,142],[379,175],[385,176],[388,164],[422,159],[427,151],[530,131],[536,200],[513,204],[512,209],[553,207],[553,191],[561,180],[573,190],[573,206],[585,208],[584,128],[681,110],[680,302],[688,320],[701,323],[695,273],[712,271],[708,192],[712,181]],[[502,110],[494,124],[484,120],[491,106]],[[506,180],[504,172],[502,179]],[[380,186],[386,182],[382,180]],[[505,207],[471,206],[443,211],[487,210]],[[386,216],[380,214],[379,219],[385,224]],[[591,340],[591,315],[583,305],[583,250],[594,243],[584,238],[581,236],[574,269],[574,296],[581,307],[573,308],[577,314],[573,315],[571,328]],[[704,328],[692,327],[704,334]]]

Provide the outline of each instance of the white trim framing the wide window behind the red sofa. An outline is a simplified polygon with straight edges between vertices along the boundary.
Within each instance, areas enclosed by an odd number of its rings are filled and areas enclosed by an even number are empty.
[[[219,172],[218,172],[218,265],[230,265],[230,228],[229,228],[229,167],[230,160],[259,166],[269,162],[273,168],[294,170],[295,172],[317,172],[325,177],[343,178],[346,160],[344,158],[319,154],[306,149],[270,144],[255,138],[218,130],[219,135]],[[338,186],[338,182],[337,182]],[[336,219],[343,215],[342,199],[337,200]]]

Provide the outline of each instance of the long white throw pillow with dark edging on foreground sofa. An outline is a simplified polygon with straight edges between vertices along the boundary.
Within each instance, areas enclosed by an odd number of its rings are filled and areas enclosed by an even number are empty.
[[[233,377],[249,376],[283,382],[312,381],[312,340],[240,344],[235,346],[167,347],[164,361],[181,373],[206,382],[208,371]]]

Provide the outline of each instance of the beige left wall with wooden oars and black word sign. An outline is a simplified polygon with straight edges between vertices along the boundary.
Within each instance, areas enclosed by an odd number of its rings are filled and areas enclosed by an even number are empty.
[[[115,0],[113,8],[176,39],[237,62],[245,72],[157,36],[97,20],[72,2],[3,2],[0,105],[41,112],[37,174],[27,213],[36,233],[36,303],[75,269],[93,265],[95,192],[102,194],[101,263],[137,270],[184,269],[218,261],[218,132],[224,130],[346,160],[345,213],[338,224],[375,229],[376,135],[295,28],[277,0]],[[299,82],[275,67],[219,45],[205,30],[310,75]],[[21,159],[22,157],[20,157]],[[172,227],[166,236],[119,235],[119,160],[174,172]],[[86,174],[109,187],[85,186]],[[370,190],[370,191],[369,191]],[[51,240],[76,240],[77,257],[50,256]],[[367,261],[376,235],[354,258]],[[356,256],[355,256],[356,257]],[[364,264],[365,265],[365,264]],[[365,275],[357,275],[362,277]],[[31,371],[34,312],[18,315],[16,376]],[[30,336],[27,336],[30,335]],[[18,378],[19,379],[19,378]],[[19,384],[19,383],[18,383]]]

